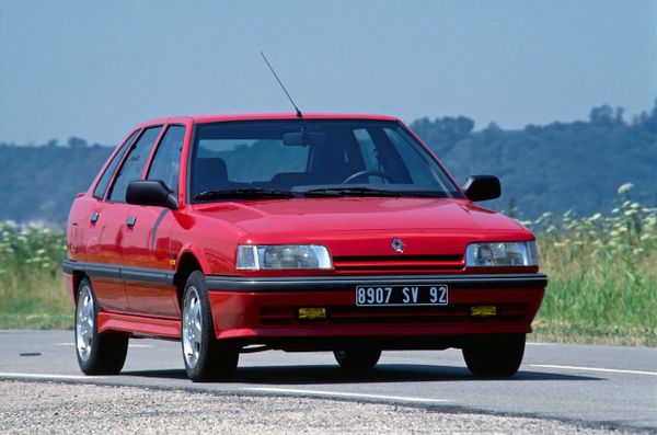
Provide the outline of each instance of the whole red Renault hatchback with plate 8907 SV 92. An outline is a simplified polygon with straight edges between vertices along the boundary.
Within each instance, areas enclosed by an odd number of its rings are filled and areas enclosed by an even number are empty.
[[[175,339],[192,380],[241,352],[462,348],[512,376],[543,298],[534,236],[473,202],[399,119],[172,117],[116,148],[68,220],[62,270],[85,374],[119,373],[130,336]]]

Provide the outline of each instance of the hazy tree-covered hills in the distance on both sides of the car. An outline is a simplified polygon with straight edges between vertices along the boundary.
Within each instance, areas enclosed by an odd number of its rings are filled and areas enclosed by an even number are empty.
[[[610,209],[621,184],[657,204],[657,104],[631,122],[622,110],[591,110],[588,122],[475,131],[466,117],[423,118],[411,128],[461,184],[495,174],[503,197],[484,204],[521,218],[544,211],[590,215]],[[0,220],[61,224],[112,151],[71,138],[43,146],[0,144]]]

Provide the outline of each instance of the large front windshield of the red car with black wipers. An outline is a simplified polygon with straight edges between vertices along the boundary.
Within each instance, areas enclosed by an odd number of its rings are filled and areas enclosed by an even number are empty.
[[[462,197],[397,122],[280,119],[199,124],[194,201],[320,196]]]

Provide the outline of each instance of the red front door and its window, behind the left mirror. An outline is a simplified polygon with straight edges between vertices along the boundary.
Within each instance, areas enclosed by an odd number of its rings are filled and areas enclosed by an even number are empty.
[[[143,174],[148,180],[162,180],[176,197],[185,134],[185,126],[169,125]],[[168,279],[175,270],[170,263],[172,211],[165,207],[131,205],[128,220],[131,225],[124,233],[123,255],[130,311],[180,318],[176,287]]]

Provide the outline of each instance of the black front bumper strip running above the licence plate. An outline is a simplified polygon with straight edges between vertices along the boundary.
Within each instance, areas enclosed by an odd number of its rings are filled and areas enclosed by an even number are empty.
[[[357,285],[446,284],[451,288],[544,288],[543,274],[498,275],[372,275],[372,276],[300,276],[241,277],[210,275],[210,290],[228,291],[313,291],[348,290]]]

